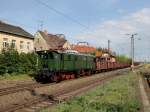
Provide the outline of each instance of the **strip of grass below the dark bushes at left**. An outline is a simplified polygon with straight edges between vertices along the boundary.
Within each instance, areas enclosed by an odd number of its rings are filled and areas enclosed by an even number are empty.
[[[5,74],[0,76],[0,81],[17,81],[17,80],[29,80],[31,76],[28,74]]]

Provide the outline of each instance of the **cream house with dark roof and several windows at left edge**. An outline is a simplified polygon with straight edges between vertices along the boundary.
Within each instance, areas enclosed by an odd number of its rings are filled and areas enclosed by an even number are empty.
[[[19,26],[0,21],[0,52],[12,47],[19,53],[33,52],[34,37]]]

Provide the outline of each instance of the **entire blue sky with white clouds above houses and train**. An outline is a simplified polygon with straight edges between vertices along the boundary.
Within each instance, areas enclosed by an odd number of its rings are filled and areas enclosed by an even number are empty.
[[[107,47],[109,39],[112,50],[126,55],[126,34],[138,33],[135,58],[150,60],[150,0],[0,0],[0,20],[33,35],[39,29],[65,34],[70,43]]]

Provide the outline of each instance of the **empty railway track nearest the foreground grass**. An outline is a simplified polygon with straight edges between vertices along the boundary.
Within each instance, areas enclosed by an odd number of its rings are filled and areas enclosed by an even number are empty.
[[[53,94],[36,94],[36,98],[31,99],[27,102],[22,102],[10,107],[7,107],[3,110],[0,110],[0,112],[36,112],[40,110],[43,107],[52,106],[58,102],[61,102],[63,100],[66,100],[72,96],[78,95],[79,93],[83,91],[87,91],[91,88],[96,87],[97,85],[103,84],[104,82],[116,77],[120,76],[122,73],[115,73],[113,75],[106,75],[104,77],[101,77],[99,79],[93,79],[86,83],[83,83],[80,86],[72,86],[70,88],[62,88],[57,92],[54,92]],[[34,85],[33,85],[34,86]],[[26,88],[25,88],[26,89]],[[44,104],[45,103],[45,104]],[[39,106],[40,105],[40,106]],[[43,106],[45,105],[45,106]],[[23,109],[22,109],[23,108]]]

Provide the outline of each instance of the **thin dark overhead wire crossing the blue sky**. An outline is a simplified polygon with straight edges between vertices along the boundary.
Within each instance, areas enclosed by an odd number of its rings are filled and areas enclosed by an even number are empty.
[[[64,14],[63,12],[61,12],[61,11],[55,9],[54,7],[52,7],[52,6],[50,6],[50,5],[46,4],[46,3],[44,3],[43,1],[41,1],[41,0],[35,0],[35,1],[38,2],[39,4],[43,5],[43,6],[47,7],[49,10],[52,10],[53,12],[55,12],[55,13],[57,13],[57,14],[63,16],[64,18],[66,18],[66,19],[68,19],[68,20],[70,20],[70,21],[72,21],[72,22],[74,22],[74,23],[76,23],[76,24],[78,24],[78,25],[84,27],[85,29],[88,29],[88,30],[90,29],[89,27],[87,27],[86,25],[80,23],[80,22],[77,21],[76,19],[74,19],[74,18],[68,16],[67,14]]]

